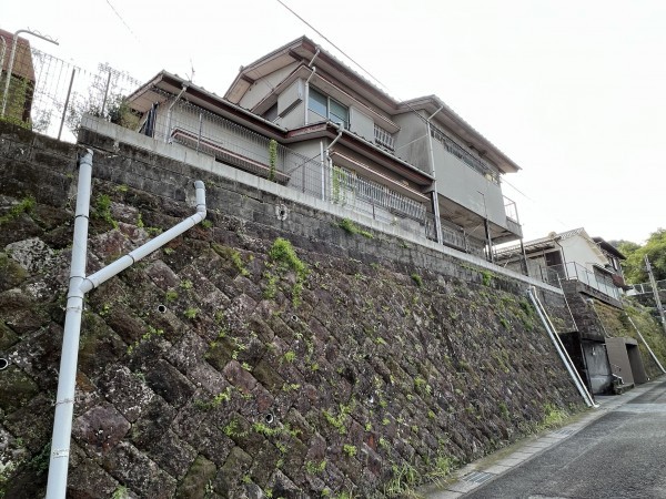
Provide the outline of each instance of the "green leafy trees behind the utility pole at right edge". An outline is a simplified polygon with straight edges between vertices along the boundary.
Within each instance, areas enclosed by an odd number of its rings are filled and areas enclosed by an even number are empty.
[[[645,255],[647,255],[653,268],[655,279],[666,279],[666,230],[657,228],[647,242],[640,246],[629,241],[618,242],[617,248],[627,259],[623,262],[625,278],[628,283],[647,283],[647,269],[645,268]]]

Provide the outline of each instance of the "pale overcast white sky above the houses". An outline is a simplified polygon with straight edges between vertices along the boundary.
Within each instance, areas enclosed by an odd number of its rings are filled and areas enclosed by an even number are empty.
[[[642,244],[666,227],[663,0],[4,3],[0,28],[57,39],[30,38],[60,59],[140,81],[193,70],[219,95],[305,34],[398,100],[437,95],[516,162],[503,191],[526,241],[583,226]]]

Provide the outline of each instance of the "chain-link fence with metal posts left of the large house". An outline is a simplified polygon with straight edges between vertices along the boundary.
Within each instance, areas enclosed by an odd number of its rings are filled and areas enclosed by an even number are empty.
[[[108,64],[88,71],[16,37],[0,37],[0,119],[70,142],[85,112],[125,124],[123,96],[139,85]]]

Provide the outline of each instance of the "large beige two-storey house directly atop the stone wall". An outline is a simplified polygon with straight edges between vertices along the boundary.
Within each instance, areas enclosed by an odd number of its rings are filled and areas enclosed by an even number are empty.
[[[241,68],[223,98],[161,72],[129,96],[142,132],[441,244],[521,237],[518,166],[436,96],[397,101],[307,38]]]

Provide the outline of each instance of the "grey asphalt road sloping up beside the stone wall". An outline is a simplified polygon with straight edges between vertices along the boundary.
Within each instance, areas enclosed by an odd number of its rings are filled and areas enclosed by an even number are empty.
[[[462,497],[666,498],[666,381]]]

